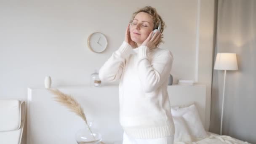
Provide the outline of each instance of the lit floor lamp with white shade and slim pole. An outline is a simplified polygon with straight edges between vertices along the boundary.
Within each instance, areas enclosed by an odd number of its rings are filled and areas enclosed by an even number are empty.
[[[222,119],[223,119],[223,106],[225,97],[225,81],[227,70],[237,70],[237,57],[235,53],[217,53],[214,69],[224,70],[224,84],[223,84],[223,97],[222,97],[222,109],[221,109],[221,130],[222,135]]]

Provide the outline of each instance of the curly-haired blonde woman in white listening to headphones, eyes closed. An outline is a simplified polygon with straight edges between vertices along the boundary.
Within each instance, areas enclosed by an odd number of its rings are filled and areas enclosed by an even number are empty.
[[[161,24],[160,32],[152,31]],[[173,56],[157,46],[165,23],[150,6],[133,13],[125,41],[99,71],[102,81],[120,80],[123,144],[173,144],[175,128],[167,85]]]

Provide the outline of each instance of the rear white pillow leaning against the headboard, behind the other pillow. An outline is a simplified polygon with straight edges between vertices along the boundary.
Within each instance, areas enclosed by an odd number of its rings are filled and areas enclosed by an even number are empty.
[[[197,112],[197,108],[195,104],[192,104],[189,107],[184,108],[171,108],[171,113],[173,117],[183,117],[187,127],[189,129],[189,133],[195,138],[206,138],[207,133],[203,127],[202,121]]]

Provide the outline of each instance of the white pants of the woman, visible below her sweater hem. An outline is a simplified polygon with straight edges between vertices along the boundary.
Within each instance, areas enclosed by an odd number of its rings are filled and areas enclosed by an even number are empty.
[[[173,144],[174,136],[159,139],[134,139],[123,133],[123,144]]]

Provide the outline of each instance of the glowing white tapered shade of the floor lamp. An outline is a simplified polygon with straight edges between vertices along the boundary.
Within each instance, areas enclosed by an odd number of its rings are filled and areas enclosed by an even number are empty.
[[[217,53],[214,69],[237,70],[237,56],[235,53]]]

